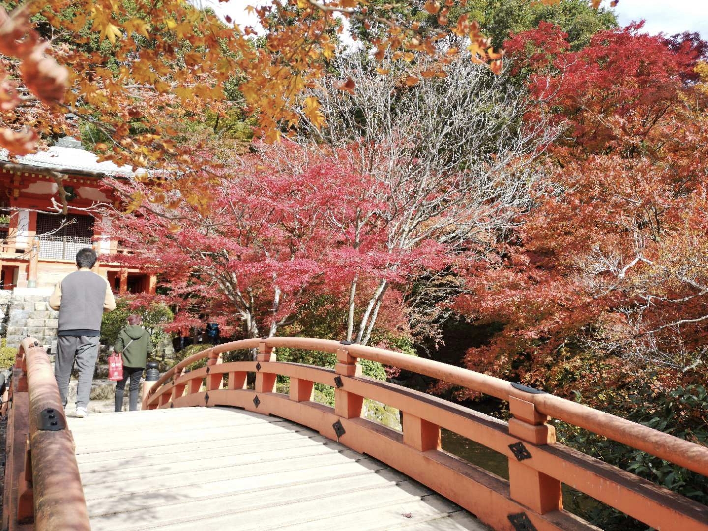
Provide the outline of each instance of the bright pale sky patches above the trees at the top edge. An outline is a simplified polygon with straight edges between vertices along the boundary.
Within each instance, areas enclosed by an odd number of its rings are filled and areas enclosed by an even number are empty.
[[[194,0],[193,3],[211,6],[217,13],[231,16],[234,22],[241,25],[255,26],[256,18],[246,14],[246,6],[262,5],[267,0]],[[609,0],[603,2],[605,6],[609,3]],[[708,40],[708,0],[619,0],[615,13],[620,25],[644,19],[644,28],[652,35],[697,31]]]

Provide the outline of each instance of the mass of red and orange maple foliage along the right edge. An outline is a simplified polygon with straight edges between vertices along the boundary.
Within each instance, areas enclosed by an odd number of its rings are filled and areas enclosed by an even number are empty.
[[[704,45],[632,25],[573,52],[542,24],[506,47],[566,135],[544,200],[470,269],[459,308],[503,331],[467,363],[564,392],[622,387],[628,363],[669,389],[704,379],[708,122],[687,83]]]

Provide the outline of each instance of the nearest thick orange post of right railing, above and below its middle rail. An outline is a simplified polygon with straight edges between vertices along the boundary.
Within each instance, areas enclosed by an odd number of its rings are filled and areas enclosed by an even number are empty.
[[[547,445],[556,442],[556,430],[549,426],[549,417],[542,415],[535,404],[509,397],[509,435],[530,442]],[[523,459],[509,457],[509,486],[513,500],[523,503],[539,514],[563,508],[561,482],[524,464]]]

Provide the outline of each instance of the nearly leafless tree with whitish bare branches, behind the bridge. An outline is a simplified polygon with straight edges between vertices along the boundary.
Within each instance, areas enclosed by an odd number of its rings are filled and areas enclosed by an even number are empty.
[[[341,227],[351,231],[357,249],[367,216],[383,217],[386,224],[378,270],[346,278],[347,339],[367,343],[387,290],[400,282],[402,256],[410,253],[423,261],[440,256],[404,296],[413,329],[434,323],[454,294],[438,282],[440,275],[474,255],[490,234],[505,231],[530,204],[530,189],[543,171],[537,159],[556,132],[544,120],[526,127],[525,92],[464,59],[448,65],[444,77],[423,59],[413,69],[393,60],[374,64],[365,55],[334,64],[339,74],[307,93],[320,102],[326,123],[301,116],[293,141],[305,154],[331,159],[377,183],[362,193],[382,210],[362,212],[351,227]],[[388,75],[380,75],[381,69]],[[348,83],[353,88],[343,96],[341,87]],[[282,167],[302,164],[289,153],[275,146],[266,156]],[[428,247],[422,245],[426,241]],[[372,278],[371,288],[360,284],[364,278]]]

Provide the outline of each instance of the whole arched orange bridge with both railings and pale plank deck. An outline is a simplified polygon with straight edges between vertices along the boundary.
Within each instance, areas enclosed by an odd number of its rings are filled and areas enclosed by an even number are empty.
[[[337,363],[278,362],[283,347],[336,353]],[[256,360],[222,362],[238,349],[257,349]],[[185,371],[202,358],[205,367]],[[512,418],[364,377],[359,358],[496,396]],[[275,392],[278,375],[290,378],[289,394]],[[333,408],[313,401],[317,382],[333,387]],[[47,354],[28,338],[9,396],[4,530],[597,530],[564,510],[565,484],[658,530],[708,531],[708,507],[557,443],[549,420],[703,476],[707,447],[391,350],[309,338],[224,343],[165,372],[139,413],[67,426]],[[399,409],[402,433],[362,418],[364,399]],[[441,450],[440,428],[507,457],[508,481]]]

